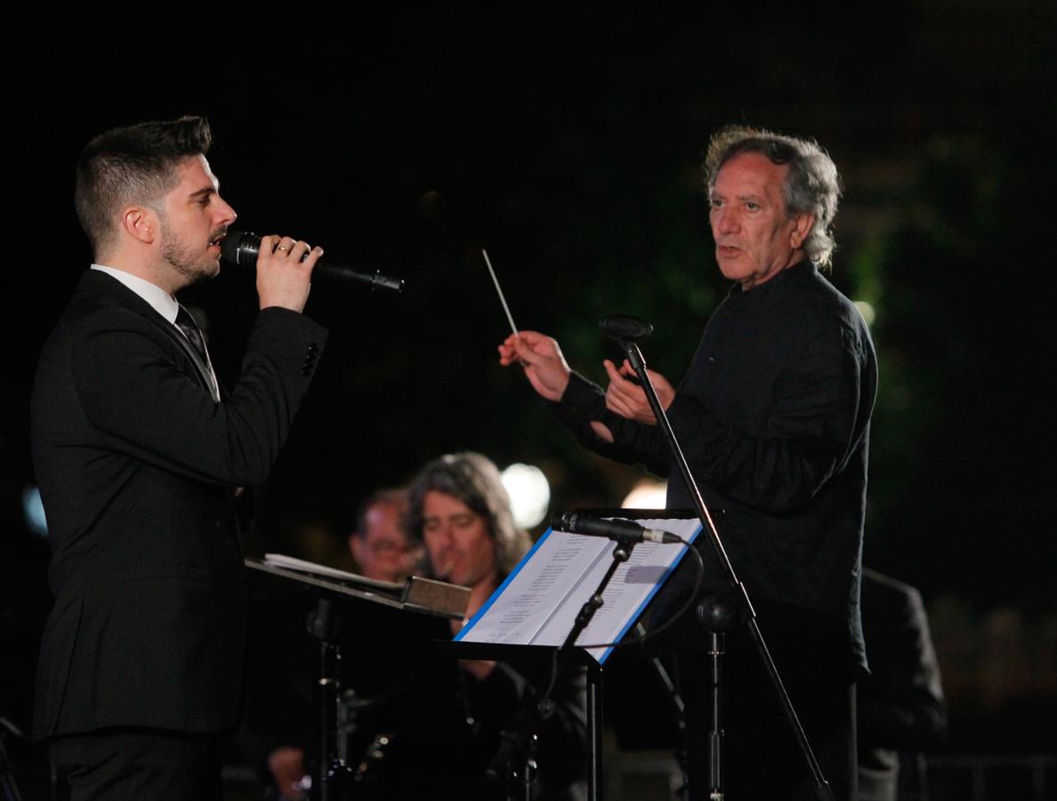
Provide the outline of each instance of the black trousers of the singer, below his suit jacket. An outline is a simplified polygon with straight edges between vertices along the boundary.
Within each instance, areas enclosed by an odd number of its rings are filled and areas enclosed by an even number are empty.
[[[220,738],[120,727],[49,741],[53,801],[221,801]]]

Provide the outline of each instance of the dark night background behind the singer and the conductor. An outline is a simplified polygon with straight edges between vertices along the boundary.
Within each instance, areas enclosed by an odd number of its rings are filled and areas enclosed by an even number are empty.
[[[674,7],[674,6],[672,6]],[[10,173],[0,644],[27,724],[47,543],[33,482],[37,353],[91,254],[72,170],[95,133],[205,114],[240,225],[407,280],[317,281],[331,339],[265,491],[253,553],[337,560],[355,503],[443,452],[537,464],[553,509],[637,477],[576,447],[497,365],[506,322],[600,379],[596,321],[651,319],[678,379],[726,292],[700,164],[748,123],[813,136],[840,168],[834,282],[876,311],[868,564],[922,589],[956,751],[1057,748],[1052,4],[172,6],[39,19],[5,56]],[[225,268],[185,302],[228,383],[256,311]],[[179,421],[174,422],[179,425]]]

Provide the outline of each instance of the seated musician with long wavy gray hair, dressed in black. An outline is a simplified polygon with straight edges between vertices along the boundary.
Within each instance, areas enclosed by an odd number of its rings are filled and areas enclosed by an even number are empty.
[[[412,551],[425,546],[429,574],[470,589],[467,619],[531,545],[514,523],[498,469],[478,453],[445,455],[423,468],[409,487],[405,523]],[[349,798],[499,801],[509,796],[506,782],[486,780],[485,768],[500,746],[500,732],[550,676],[504,663],[453,660],[434,642],[462,626],[462,620],[363,601],[342,604],[342,705],[352,711],[346,718],[352,725],[341,738],[354,775]],[[583,795],[582,674],[560,675],[552,697],[556,711],[540,732],[532,797],[572,801]],[[307,720],[312,712],[304,704]],[[299,780],[315,759],[290,746],[271,751],[270,768],[284,798],[304,797]],[[523,798],[523,791],[516,797]]]

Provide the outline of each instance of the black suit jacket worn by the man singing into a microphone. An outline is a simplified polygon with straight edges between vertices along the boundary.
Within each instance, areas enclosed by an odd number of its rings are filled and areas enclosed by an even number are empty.
[[[214,403],[179,332],[90,271],[52,333],[32,400],[55,607],[34,734],[233,727],[245,581],[231,488],[262,482],[326,331],[263,310]]]

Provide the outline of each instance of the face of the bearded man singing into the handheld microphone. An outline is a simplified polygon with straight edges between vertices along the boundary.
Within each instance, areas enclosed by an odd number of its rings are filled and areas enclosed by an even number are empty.
[[[220,197],[205,156],[186,160],[177,174],[180,183],[165,195],[159,216],[162,258],[186,286],[220,272],[220,241],[236,213]]]

